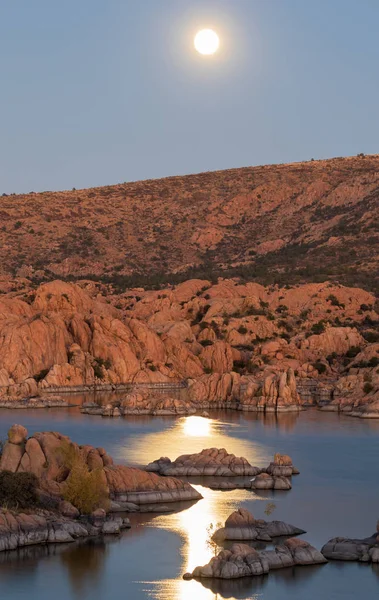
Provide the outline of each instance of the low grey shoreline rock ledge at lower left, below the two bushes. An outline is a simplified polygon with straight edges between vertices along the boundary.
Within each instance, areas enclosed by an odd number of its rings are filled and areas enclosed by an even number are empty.
[[[67,518],[63,513],[0,511],[0,552],[34,544],[67,544],[79,538],[119,534],[130,527],[129,519],[107,518],[105,513],[82,520]]]

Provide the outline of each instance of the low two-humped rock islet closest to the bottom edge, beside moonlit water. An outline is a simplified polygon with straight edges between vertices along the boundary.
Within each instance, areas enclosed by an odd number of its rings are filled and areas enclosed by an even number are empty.
[[[326,558],[316,548],[296,538],[290,538],[274,550],[262,552],[246,544],[233,544],[230,550],[222,550],[207,565],[186,573],[184,579],[238,579],[264,575],[272,569],[326,562]]]

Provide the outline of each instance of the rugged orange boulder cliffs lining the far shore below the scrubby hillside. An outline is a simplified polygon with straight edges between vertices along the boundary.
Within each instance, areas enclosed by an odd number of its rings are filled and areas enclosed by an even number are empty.
[[[297,378],[340,380],[338,406],[347,396],[374,402],[377,308],[369,292],[330,283],[265,288],[190,280],[102,296],[92,284],[55,281],[2,296],[0,396],[94,380],[188,379],[195,404],[233,403],[244,384],[246,405],[268,398],[265,405],[284,410],[299,403],[293,375],[279,375],[290,370]]]

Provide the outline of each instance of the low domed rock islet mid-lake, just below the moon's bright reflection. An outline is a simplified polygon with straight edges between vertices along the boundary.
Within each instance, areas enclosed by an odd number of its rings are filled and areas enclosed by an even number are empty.
[[[228,454],[225,448],[208,448],[198,454],[183,454],[175,461],[162,457],[150,463],[146,470],[174,477],[247,477],[261,472],[245,458]]]

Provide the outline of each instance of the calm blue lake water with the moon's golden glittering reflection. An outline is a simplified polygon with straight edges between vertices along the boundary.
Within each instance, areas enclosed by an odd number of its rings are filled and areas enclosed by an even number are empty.
[[[231,492],[202,488],[204,499],[169,515],[132,515],[121,537],[90,543],[30,547],[0,554],[0,597],[7,600],[353,600],[375,598],[379,568],[331,563],[273,572],[238,582],[183,581],[208,562],[206,528],[239,506],[307,531],[320,548],[336,535],[372,534],[379,518],[379,422],[316,411],[264,418],[237,412],[200,417],[102,419],[78,409],[1,411],[0,437],[13,423],[29,433],[56,430],[78,443],[103,446],[117,462],[144,465],[167,455],[225,447],[265,466],[275,452],[292,456],[301,475],[290,492]]]

